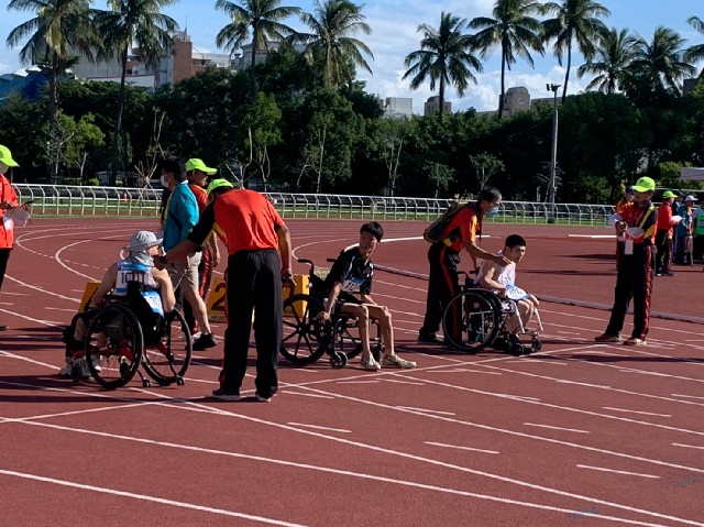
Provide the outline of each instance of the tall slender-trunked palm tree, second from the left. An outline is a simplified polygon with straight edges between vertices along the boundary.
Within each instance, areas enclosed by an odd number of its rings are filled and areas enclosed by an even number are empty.
[[[102,57],[117,56],[122,66],[118,117],[112,135],[112,160],[110,182],[116,184],[122,112],[124,109],[124,83],[128,56],[131,46],[140,50],[147,66],[158,64],[161,57],[174,45],[172,34],[178,29],[174,19],[162,14],[161,9],[176,0],[108,0],[109,11],[98,11],[95,17],[98,31],[105,42]]]

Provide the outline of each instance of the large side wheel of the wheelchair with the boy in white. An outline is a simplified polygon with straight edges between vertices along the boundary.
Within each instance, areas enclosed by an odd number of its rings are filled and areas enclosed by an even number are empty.
[[[444,310],[446,339],[460,351],[476,353],[492,343],[501,325],[502,306],[491,292],[466,289]]]

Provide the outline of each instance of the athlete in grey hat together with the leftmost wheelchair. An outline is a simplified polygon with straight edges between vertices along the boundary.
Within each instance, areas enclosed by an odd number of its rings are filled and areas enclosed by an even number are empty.
[[[161,240],[138,231],[124,257],[108,267],[86,310],[64,333],[66,367],[59,375],[92,376],[108,389],[129,383],[140,365],[160,385],[183,384],[193,342],[166,271],[154,267]]]

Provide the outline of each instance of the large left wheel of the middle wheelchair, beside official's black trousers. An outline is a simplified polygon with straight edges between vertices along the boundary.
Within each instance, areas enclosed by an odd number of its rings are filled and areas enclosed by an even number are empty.
[[[316,320],[323,309],[319,299],[306,294],[292,295],[284,300],[284,334],[279,351],[292,364],[311,364],[332,349],[332,323]]]

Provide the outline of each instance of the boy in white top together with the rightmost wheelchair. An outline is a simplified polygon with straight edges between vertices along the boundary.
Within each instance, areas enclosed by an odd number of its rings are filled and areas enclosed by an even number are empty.
[[[476,277],[468,276],[464,290],[448,305],[444,330],[460,328],[459,334],[449,333],[448,339],[468,352],[477,352],[488,345],[516,356],[540,351],[538,331],[527,330],[534,317],[542,330],[538,299],[516,286],[516,264],[526,254],[526,240],[518,234],[509,235],[499,254],[509,261],[508,265],[501,266],[488,260],[482,262]],[[518,336],[524,333],[531,336],[529,347],[519,340]]]

